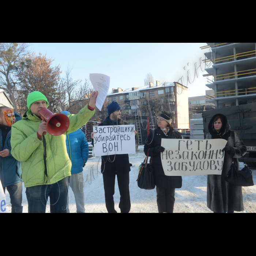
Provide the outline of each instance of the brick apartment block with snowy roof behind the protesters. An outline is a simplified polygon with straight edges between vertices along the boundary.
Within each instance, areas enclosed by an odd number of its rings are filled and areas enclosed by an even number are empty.
[[[156,81],[155,84],[150,83],[148,86],[112,89],[107,100],[109,103],[116,101],[128,116],[151,116],[151,110],[153,118],[156,119],[156,115],[162,110],[171,111],[174,128],[189,128],[188,87],[180,83]]]

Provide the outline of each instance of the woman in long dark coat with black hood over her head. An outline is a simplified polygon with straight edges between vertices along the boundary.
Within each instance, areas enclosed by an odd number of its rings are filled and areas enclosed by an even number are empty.
[[[207,177],[207,207],[215,213],[234,213],[244,211],[242,187],[234,186],[225,181],[225,177],[232,165],[233,158],[239,169],[238,158],[246,154],[246,146],[236,131],[230,130],[227,117],[216,114],[208,125],[209,133],[206,139],[225,139],[227,145],[221,175],[208,175]],[[241,153],[240,153],[241,152]]]

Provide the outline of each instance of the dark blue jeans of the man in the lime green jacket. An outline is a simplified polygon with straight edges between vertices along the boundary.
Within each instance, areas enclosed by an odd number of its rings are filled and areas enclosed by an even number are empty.
[[[68,178],[52,185],[38,185],[26,188],[29,213],[45,213],[48,197],[50,197],[51,213],[67,213]]]

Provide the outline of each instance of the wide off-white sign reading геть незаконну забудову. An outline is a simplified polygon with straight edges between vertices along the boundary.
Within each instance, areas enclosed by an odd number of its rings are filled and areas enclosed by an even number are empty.
[[[223,139],[162,139],[161,153],[166,176],[221,175],[227,141]]]

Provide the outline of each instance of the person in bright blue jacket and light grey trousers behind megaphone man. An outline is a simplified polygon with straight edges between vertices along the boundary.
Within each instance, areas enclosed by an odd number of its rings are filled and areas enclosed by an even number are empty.
[[[66,116],[70,115],[70,112],[68,111],[62,111],[61,113]],[[85,213],[83,167],[88,160],[89,146],[81,129],[66,135],[66,146],[68,156],[72,163],[69,186],[75,196],[76,212]],[[67,208],[67,211],[69,212],[69,208]]]

